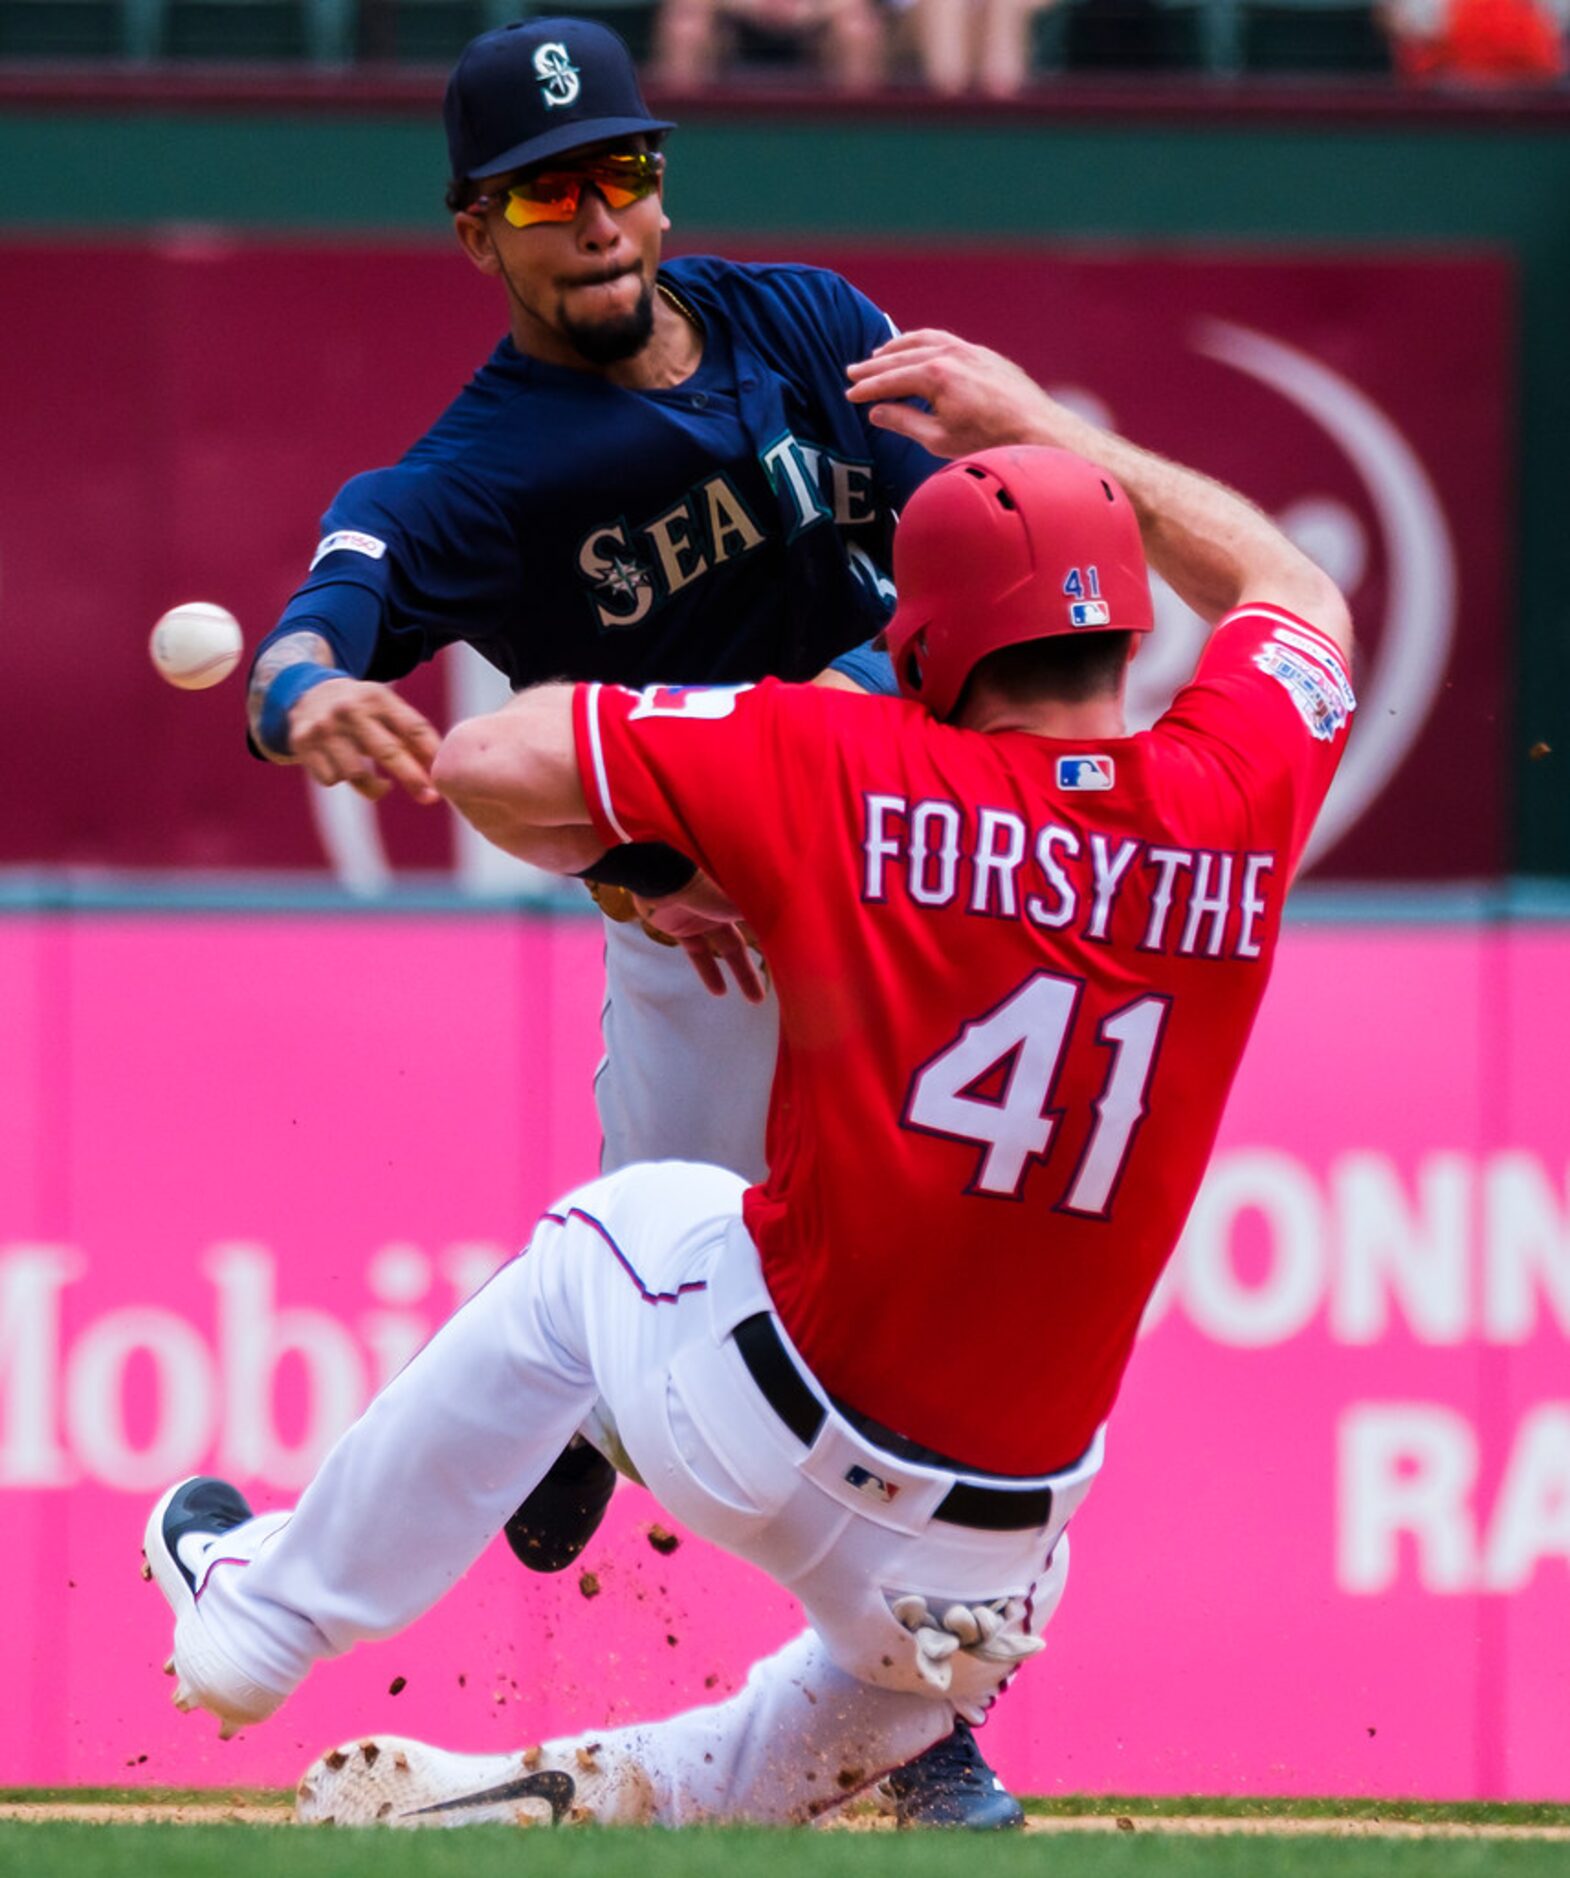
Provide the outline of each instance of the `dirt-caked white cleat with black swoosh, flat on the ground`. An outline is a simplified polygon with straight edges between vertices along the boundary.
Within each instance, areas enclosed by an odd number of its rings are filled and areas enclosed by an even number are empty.
[[[541,1750],[449,1754],[400,1735],[331,1748],[295,1788],[300,1825],[556,1825],[573,1810],[573,1775]]]

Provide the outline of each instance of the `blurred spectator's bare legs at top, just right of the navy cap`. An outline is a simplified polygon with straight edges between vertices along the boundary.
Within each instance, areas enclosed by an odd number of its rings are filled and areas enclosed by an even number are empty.
[[[800,51],[838,90],[873,90],[885,68],[877,0],[663,0],[652,77],[667,90],[695,92],[738,53],[768,60]]]

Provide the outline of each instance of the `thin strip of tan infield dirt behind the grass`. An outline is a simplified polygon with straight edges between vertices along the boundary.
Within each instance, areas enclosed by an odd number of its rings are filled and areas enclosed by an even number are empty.
[[[0,1805],[0,1820],[75,1820],[85,1825],[293,1825],[287,1803],[259,1805],[255,1801],[8,1801]],[[832,1822],[832,1829],[892,1831],[892,1820],[862,1812],[851,1820]],[[1219,1837],[1226,1833],[1249,1837],[1330,1837],[1330,1839],[1527,1839],[1570,1842],[1570,1825],[1502,1825],[1469,1824],[1459,1820],[1378,1820],[1378,1818],[1301,1818],[1226,1816],[1226,1814],[1029,1814],[1027,1833],[1176,1833],[1191,1837]]]

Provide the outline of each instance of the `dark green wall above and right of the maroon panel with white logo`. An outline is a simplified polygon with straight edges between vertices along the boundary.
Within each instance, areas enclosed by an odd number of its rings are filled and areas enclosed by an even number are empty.
[[[1512,116],[1309,111],[1219,118],[1215,90],[1159,113],[930,113],[922,122],[708,107],[680,139],[685,229],[1204,246],[1467,242],[1521,289],[1517,849],[1570,875],[1570,100]],[[915,111],[911,113],[915,116]],[[225,109],[0,105],[0,229],[229,222],[443,235],[436,88]],[[85,287],[90,291],[90,287]],[[1547,742],[1553,757],[1527,749]],[[1457,753],[1457,759],[1461,753]]]

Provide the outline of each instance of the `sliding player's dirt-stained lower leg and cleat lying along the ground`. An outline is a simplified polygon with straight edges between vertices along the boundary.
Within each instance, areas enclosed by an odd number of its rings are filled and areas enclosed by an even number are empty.
[[[297,1790],[304,1824],[802,1825],[839,1807],[954,1722],[950,1705],[873,1688],[806,1632],[755,1664],[727,1701],[663,1722],[599,1728],[518,1754],[449,1754],[400,1737],[323,1754]],[[562,1793],[571,1784],[571,1799]]]

